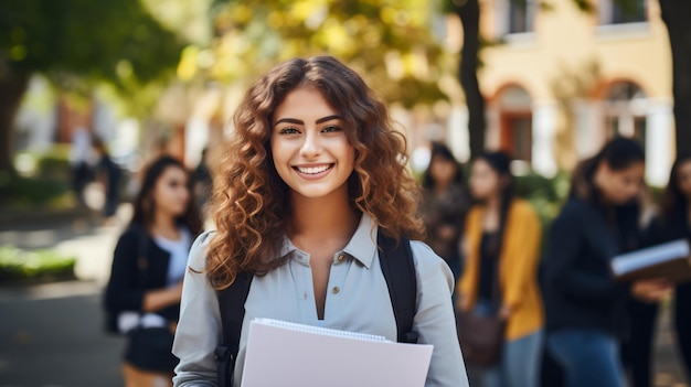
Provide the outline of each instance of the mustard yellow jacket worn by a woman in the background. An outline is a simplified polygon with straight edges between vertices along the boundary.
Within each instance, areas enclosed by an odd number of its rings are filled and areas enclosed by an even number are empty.
[[[479,287],[483,215],[485,208],[476,205],[466,219],[464,240],[466,265],[458,291],[468,298],[470,310],[475,308]],[[540,219],[532,205],[523,200],[514,200],[507,215],[499,258],[501,301],[511,309],[507,321],[507,340],[534,333],[544,324],[542,298],[538,286],[540,237]]]

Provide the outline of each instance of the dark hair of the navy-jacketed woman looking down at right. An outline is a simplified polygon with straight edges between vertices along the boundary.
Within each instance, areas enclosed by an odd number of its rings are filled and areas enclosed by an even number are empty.
[[[599,202],[600,193],[595,185],[595,171],[602,162],[606,162],[613,171],[623,171],[645,161],[646,153],[638,142],[616,137],[607,142],[597,154],[583,160],[576,166],[571,180],[568,197],[577,197],[592,203]]]

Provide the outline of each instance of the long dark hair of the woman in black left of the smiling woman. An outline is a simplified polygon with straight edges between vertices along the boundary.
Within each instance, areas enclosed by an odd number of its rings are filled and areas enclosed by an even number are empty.
[[[169,168],[179,168],[183,170],[189,178],[189,171],[179,160],[169,155],[163,155],[153,160],[151,164],[149,164],[149,166],[146,169],[143,180],[141,181],[141,187],[139,189],[139,193],[135,197],[135,214],[132,216],[131,225],[141,226],[145,229],[148,229],[151,225],[151,222],[153,222],[153,216],[156,214],[156,203],[153,203],[152,192],[156,187],[156,183],[159,181],[163,172],[166,172],[166,170]],[[190,184],[189,180],[188,184]],[[188,207],[184,214],[180,215],[176,221],[179,224],[187,226],[194,237],[199,235],[202,230],[202,221],[196,208],[196,202],[192,197],[193,191],[190,189],[190,186],[188,186],[188,190],[190,191],[190,201],[188,203]]]

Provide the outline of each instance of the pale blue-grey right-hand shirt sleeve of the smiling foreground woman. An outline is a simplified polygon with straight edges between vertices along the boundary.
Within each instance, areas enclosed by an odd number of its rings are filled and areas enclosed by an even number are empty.
[[[421,241],[411,249],[417,272],[417,312],[413,330],[419,344],[432,344],[426,387],[468,387],[451,304],[454,276],[446,262]]]

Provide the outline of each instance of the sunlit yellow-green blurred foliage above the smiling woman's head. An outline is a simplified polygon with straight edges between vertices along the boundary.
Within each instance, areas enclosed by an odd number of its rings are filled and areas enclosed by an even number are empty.
[[[182,73],[246,82],[290,57],[330,54],[390,101],[411,107],[446,98],[438,87],[444,50],[428,1],[216,1],[212,9],[212,63],[202,68],[196,53],[183,55]]]

